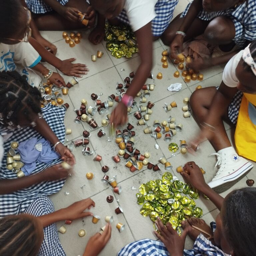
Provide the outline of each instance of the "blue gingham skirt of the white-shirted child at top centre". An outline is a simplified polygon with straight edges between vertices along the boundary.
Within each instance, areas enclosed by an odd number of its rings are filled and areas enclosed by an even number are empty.
[[[129,0],[126,0],[129,1]],[[149,0],[152,1],[152,0]],[[179,0],[158,0],[155,4],[156,17],[151,21],[152,35],[161,36],[166,28],[169,26],[173,11],[178,4]],[[138,16],[141,20],[143,17]],[[129,19],[126,14],[126,10],[123,9],[122,12],[117,16],[117,19],[125,24],[129,24]]]

